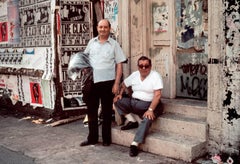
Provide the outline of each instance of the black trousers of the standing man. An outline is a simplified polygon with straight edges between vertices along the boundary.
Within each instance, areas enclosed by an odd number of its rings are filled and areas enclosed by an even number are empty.
[[[87,100],[88,114],[88,141],[98,142],[98,108],[102,107],[102,140],[104,143],[111,143],[111,123],[112,123],[112,105],[113,93],[112,86],[114,80],[99,82],[92,85]]]

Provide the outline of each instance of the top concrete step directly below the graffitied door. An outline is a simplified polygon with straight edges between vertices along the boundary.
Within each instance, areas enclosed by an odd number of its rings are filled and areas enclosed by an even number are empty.
[[[207,101],[192,99],[165,99],[162,98],[166,113],[183,114],[191,118],[206,119]]]

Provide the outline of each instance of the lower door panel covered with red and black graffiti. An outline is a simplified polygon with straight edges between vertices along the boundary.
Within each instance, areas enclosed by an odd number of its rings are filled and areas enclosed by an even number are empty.
[[[207,99],[207,54],[178,55],[177,96]]]

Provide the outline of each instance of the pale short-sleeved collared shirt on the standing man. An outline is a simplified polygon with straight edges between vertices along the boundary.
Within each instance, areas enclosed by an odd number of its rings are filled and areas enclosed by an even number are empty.
[[[119,43],[110,37],[105,43],[100,43],[98,37],[91,39],[84,52],[89,53],[94,83],[114,80],[116,64],[126,61]]]

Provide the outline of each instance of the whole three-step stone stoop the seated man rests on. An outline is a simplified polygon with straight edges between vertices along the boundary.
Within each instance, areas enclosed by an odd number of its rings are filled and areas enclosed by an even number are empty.
[[[163,115],[153,123],[145,144],[140,149],[187,162],[205,155],[206,102],[163,100],[163,105]],[[122,131],[119,126],[113,126],[112,142],[130,146],[135,132],[136,129]]]

